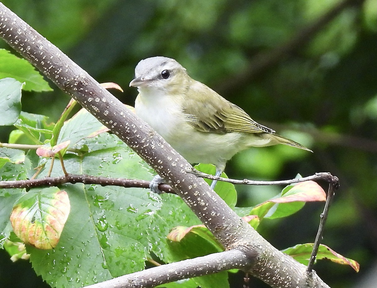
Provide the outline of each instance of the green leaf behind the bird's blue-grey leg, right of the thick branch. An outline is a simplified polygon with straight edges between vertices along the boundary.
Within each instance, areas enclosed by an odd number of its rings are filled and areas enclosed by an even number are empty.
[[[198,164],[195,165],[194,168],[211,175],[215,175],[216,173],[216,167],[212,164]],[[221,177],[228,178],[224,172],[221,174]],[[211,185],[212,180],[204,178],[204,181]],[[232,183],[217,181],[215,192],[228,204],[230,208],[233,209],[234,206],[236,206],[237,191]]]

